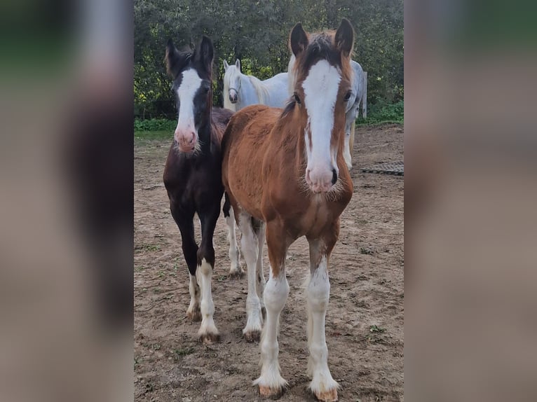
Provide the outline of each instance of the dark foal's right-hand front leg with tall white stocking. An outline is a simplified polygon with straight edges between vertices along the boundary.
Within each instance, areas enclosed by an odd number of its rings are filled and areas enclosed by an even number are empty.
[[[215,233],[215,226],[219,214],[219,205],[217,205],[214,211],[200,214],[201,244],[198,249],[197,270],[201,290],[201,326],[198,331],[198,336],[203,343],[212,343],[219,339],[219,333],[213,319],[215,305],[212,303],[211,292],[212,270],[215,266],[215,249],[212,246],[212,237]]]

